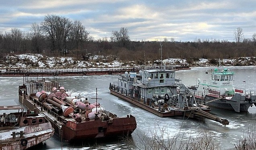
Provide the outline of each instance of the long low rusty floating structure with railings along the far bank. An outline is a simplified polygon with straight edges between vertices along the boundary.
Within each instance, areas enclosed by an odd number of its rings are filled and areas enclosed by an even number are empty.
[[[88,69],[1,69],[0,76],[86,76],[86,75],[104,75],[119,74],[124,72],[139,72],[139,70],[157,68],[133,67],[133,68],[88,68]],[[187,70],[188,66],[168,66],[166,69]]]

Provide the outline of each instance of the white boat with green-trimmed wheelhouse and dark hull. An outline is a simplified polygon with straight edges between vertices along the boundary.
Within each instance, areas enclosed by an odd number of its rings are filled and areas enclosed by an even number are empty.
[[[198,78],[198,84],[190,86],[191,92],[197,100],[205,100],[208,106],[233,110],[235,112],[247,112],[250,106],[256,103],[256,92],[246,91],[243,88],[233,86],[235,73],[227,68],[211,70],[210,81]],[[244,81],[245,82],[245,81]]]

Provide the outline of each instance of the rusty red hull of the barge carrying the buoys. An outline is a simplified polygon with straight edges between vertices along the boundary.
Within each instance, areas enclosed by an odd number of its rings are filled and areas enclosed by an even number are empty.
[[[20,87],[20,89],[21,88],[23,87]],[[127,115],[127,117],[113,117],[104,121],[95,118],[95,120],[92,119],[79,123],[74,121],[71,117],[65,118],[61,114],[52,111],[39,101],[35,93],[30,95],[19,94],[19,102],[34,112],[45,114],[47,120],[55,129],[55,133],[67,142],[109,136],[119,137],[131,135],[137,127],[135,117],[132,115]],[[110,112],[106,111],[106,113]]]

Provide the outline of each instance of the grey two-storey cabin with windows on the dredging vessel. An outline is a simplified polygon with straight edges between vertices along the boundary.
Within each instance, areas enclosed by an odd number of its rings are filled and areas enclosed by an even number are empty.
[[[118,78],[118,87],[123,94],[133,94],[140,98],[164,98],[165,94],[170,96],[176,94],[175,71],[168,69],[140,70],[125,72]]]

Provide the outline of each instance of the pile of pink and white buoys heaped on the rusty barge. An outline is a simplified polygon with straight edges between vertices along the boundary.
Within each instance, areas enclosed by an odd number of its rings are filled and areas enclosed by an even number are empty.
[[[93,104],[88,103],[87,98],[77,99],[76,96],[71,96],[71,92],[66,92],[64,87],[52,88],[52,92],[37,92],[36,96],[44,106],[50,110],[60,114],[63,112],[64,117],[72,117],[77,122],[82,121],[82,114],[84,118],[95,119],[97,115],[108,118],[106,114],[102,113],[104,107],[100,106],[99,103]],[[50,106],[49,104],[53,105]],[[57,108],[55,108],[57,107]],[[79,110],[77,111],[77,109]],[[80,112],[81,110],[81,113]]]

